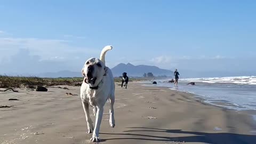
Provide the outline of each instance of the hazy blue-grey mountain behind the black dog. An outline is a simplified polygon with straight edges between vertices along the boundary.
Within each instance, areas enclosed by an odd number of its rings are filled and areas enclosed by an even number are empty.
[[[167,69],[161,69],[156,66],[138,65],[134,66],[131,63],[119,63],[117,66],[111,69],[114,76],[121,76],[124,72],[128,76],[142,76],[144,73],[153,73],[154,76],[172,76],[173,71]]]

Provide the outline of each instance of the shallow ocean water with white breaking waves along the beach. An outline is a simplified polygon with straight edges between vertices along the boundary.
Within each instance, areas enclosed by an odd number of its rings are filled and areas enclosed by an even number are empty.
[[[195,94],[211,105],[236,110],[256,110],[256,76],[181,78],[178,87],[165,80],[155,80],[157,85],[171,90]],[[196,85],[187,85],[195,82]]]

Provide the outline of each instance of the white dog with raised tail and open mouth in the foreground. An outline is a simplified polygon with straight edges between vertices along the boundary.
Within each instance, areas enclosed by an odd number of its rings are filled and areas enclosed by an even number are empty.
[[[100,59],[90,58],[84,64],[82,74],[84,81],[81,86],[81,99],[87,122],[87,133],[92,133],[91,142],[99,142],[99,130],[103,116],[103,107],[107,100],[110,102],[109,124],[115,127],[114,102],[115,102],[115,83],[111,70],[105,66],[106,52],[113,47],[108,45],[103,48]],[[93,128],[92,119],[89,113],[89,103],[93,107],[95,116],[95,127]]]

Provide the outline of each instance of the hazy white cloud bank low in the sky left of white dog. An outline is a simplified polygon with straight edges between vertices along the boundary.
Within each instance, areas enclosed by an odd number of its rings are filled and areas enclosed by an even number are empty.
[[[59,70],[79,71],[84,61],[90,57],[98,57],[101,49],[102,47],[93,49],[79,45],[76,39],[67,41],[65,39],[20,38],[1,30],[0,66],[3,69],[0,69],[0,73],[19,71],[20,74],[35,74]]]

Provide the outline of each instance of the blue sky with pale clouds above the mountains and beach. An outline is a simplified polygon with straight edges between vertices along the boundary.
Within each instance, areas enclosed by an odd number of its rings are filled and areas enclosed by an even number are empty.
[[[113,45],[109,67],[254,75],[255,7],[228,0],[1,1],[0,73],[80,71]]]

